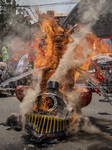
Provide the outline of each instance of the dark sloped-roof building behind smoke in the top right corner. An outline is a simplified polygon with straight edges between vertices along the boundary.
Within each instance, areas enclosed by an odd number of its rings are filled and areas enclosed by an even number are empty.
[[[112,0],[81,0],[68,14],[62,26],[90,25],[98,37],[112,35]]]

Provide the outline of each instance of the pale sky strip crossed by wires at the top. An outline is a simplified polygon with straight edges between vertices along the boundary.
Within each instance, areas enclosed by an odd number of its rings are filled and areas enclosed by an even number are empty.
[[[41,13],[45,13],[48,10],[54,10],[55,13],[69,13],[77,4],[77,2],[79,2],[79,0],[16,0],[17,4],[21,5],[42,5],[43,6],[39,6],[39,11]],[[45,4],[53,4],[53,5],[45,5]],[[60,3],[60,4],[59,4]],[[62,4],[63,3],[63,4]],[[69,3],[69,4],[64,4],[64,3]],[[72,3],[72,4],[70,4]],[[33,11],[33,13],[35,14],[35,9],[34,7],[31,7],[31,10]],[[31,10],[29,10],[29,13],[31,14],[31,16],[33,17],[33,19],[36,21],[33,13],[31,12]]]

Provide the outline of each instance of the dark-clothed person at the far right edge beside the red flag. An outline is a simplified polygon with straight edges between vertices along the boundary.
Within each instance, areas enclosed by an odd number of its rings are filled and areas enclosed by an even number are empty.
[[[108,92],[111,92],[111,80],[112,80],[112,76],[111,76],[111,70],[110,70],[110,66],[107,65],[106,66],[106,71],[104,73],[104,77],[106,79],[106,88]]]

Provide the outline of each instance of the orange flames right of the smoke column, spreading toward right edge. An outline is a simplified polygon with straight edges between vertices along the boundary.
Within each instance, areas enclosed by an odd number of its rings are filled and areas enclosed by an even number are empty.
[[[100,40],[100,38],[96,37],[96,35],[93,33],[87,34],[85,39],[87,41],[86,46],[90,48],[91,53],[88,55],[88,58],[85,59],[83,64],[80,66],[80,68],[87,71],[91,63],[91,60],[94,56],[98,54],[105,55],[107,53],[110,53],[110,55],[112,55],[112,50],[110,49],[108,44],[103,43]],[[84,46],[78,45],[76,49],[77,49],[77,53],[75,59],[78,60],[79,58],[83,58],[84,57],[83,53],[85,52],[85,45]],[[77,72],[75,75],[75,82],[79,77],[79,75],[80,73]]]

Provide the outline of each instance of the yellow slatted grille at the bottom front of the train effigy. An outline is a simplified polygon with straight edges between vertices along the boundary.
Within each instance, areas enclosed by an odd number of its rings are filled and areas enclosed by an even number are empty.
[[[25,114],[25,124],[37,133],[56,133],[65,130],[65,119],[46,115]]]

